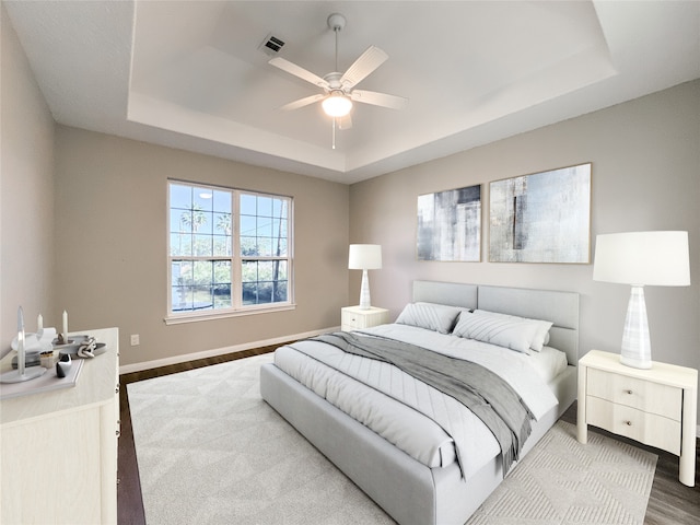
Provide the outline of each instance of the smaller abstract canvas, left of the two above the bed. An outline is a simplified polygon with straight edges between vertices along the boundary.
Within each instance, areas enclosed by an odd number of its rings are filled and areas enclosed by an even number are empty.
[[[481,186],[418,197],[418,260],[481,260]]]

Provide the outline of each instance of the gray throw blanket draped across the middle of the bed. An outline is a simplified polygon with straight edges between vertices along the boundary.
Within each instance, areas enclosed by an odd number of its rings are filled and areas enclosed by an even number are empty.
[[[490,370],[383,337],[336,332],[314,337],[348,353],[390,363],[451,396],[471,410],[493,433],[503,456],[503,475],[520,457],[535,419],[517,393]],[[457,450],[457,460],[459,451]]]

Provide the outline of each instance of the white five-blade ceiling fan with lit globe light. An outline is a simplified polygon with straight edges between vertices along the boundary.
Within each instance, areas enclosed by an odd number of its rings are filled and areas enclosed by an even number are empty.
[[[384,61],[389,57],[378,47],[370,46],[345,73],[337,72],[338,33],[345,28],[346,18],[340,13],[332,13],[328,16],[327,23],[328,27],[330,27],[336,34],[336,71],[320,78],[301,66],[296,66],[281,57],[275,57],[268,63],[324,90],[324,93],[290,102],[289,104],[283,105],[280,109],[299,109],[300,107],[322,102],[322,106],[326,115],[332,117],[332,147],[335,149],[336,119],[340,119],[340,129],[348,129],[352,126],[350,110],[352,109],[353,101],[375,106],[389,107],[392,109],[402,109],[408,104],[408,98],[386,93],[377,93],[374,91],[355,90],[354,88],[357,84],[369,77],[370,73],[382,66],[382,63],[384,63]]]

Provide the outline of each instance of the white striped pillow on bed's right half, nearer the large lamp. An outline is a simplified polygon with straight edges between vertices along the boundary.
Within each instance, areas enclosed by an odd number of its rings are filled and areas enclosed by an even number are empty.
[[[462,314],[454,334],[529,354],[541,351],[552,323],[475,310]]]

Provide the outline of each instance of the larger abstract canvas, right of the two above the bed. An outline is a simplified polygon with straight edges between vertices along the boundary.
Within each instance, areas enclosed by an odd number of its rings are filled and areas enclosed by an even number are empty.
[[[491,183],[489,260],[590,262],[591,164]]]

